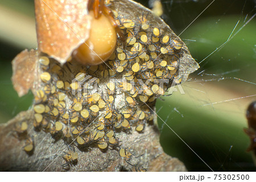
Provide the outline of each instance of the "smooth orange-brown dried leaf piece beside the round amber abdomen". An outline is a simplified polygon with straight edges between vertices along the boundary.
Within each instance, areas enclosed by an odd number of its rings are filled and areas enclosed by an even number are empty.
[[[64,64],[89,36],[88,0],[35,0],[38,49]]]

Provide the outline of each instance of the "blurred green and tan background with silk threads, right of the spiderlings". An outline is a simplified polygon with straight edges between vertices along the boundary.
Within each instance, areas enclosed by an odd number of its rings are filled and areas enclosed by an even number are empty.
[[[214,171],[254,170],[251,155],[245,152],[249,138],[242,129],[247,127],[246,109],[256,93],[255,36],[250,32],[255,29],[255,3],[162,3],[167,7],[163,17],[168,24],[179,27],[175,32],[201,67],[181,85],[185,94],[177,88],[172,97],[164,97],[164,102],[158,100],[156,104],[163,146],[171,155],[187,160],[188,169],[210,170],[210,166]],[[217,7],[212,16],[209,12]],[[183,21],[175,21],[174,15],[183,17]],[[175,143],[175,147],[168,147],[169,143]],[[180,155],[184,150],[189,158]]]

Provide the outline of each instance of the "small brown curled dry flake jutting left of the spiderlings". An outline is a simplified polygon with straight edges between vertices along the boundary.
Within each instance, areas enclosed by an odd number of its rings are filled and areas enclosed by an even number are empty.
[[[38,51],[27,49],[20,52],[13,60],[13,81],[14,89],[19,97],[28,93],[36,81],[36,64],[38,63]]]

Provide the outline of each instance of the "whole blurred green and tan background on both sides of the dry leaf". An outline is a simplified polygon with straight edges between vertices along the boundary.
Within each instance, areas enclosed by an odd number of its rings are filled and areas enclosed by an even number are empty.
[[[148,1],[140,1],[149,6]],[[162,0],[163,19],[179,35],[212,0]],[[256,18],[253,0],[216,0],[180,38],[200,63],[182,86],[185,94],[158,100],[160,142],[189,171],[255,171],[245,113],[256,100]],[[241,31],[237,32],[238,30]],[[34,1],[0,2],[0,122],[7,122],[32,103],[32,94],[19,98],[11,84],[11,60],[25,48],[36,48]],[[236,99],[237,98],[237,99]],[[235,99],[235,100],[234,100]],[[160,119],[161,118],[161,119]],[[182,138],[189,149],[163,121]]]

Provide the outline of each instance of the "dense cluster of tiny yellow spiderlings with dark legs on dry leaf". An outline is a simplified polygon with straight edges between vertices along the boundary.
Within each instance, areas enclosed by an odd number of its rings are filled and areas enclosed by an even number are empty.
[[[179,61],[187,47],[147,9],[131,17],[115,3],[109,9],[122,34],[106,63],[86,66],[70,57],[61,65],[48,55],[39,58],[34,127],[80,148],[118,148],[128,162],[132,155],[117,133],[141,133],[154,119],[156,98],[181,81]],[[69,164],[79,156],[70,150],[63,158]]]

